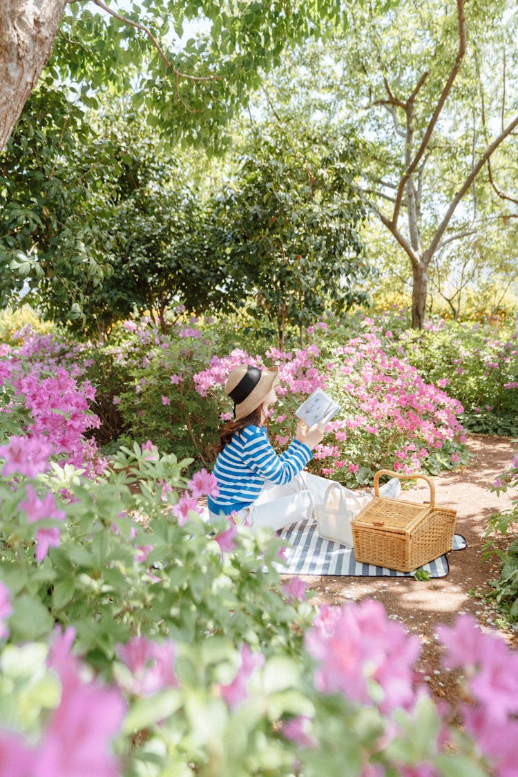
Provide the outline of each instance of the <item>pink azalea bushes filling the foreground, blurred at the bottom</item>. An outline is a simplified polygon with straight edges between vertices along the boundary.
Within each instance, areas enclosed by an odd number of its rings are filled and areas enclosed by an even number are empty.
[[[207,471],[149,441],[94,480],[44,434],[0,457],[0,775],[513,774],[518,657],[473,619],[439,630],[462,731],[379,603],[315,608],[279,538],[203,522]]]

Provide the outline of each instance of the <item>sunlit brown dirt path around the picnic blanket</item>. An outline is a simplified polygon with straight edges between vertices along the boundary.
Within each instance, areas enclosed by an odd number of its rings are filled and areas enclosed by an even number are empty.
[[[492,591],[490,581],[499,577],[499,559],[482,557],[484,532],[488,517],[509,507],[507,495],[497,497],[489,488],[499,474],[509,467],[516,443],[508,437],[472,434],[468,449],[473,455],[470,465],[456,472],[445,472],[433,479],[436,502],[457,510],[455,531],[464,535],[468,548],[450,552],[450,573],[437,580],[387,577],[314,577],[302,579],[317,592],[317,601],[342,605],[345,601],[374,598],[384,605],[390,618],[397,618],[410,632],[419,636],[422,672],[436,699],[456,702],[459,685],[456,678],[440,665],[441,646],[435,637],[436,625],[451,623],[462,612],[478,618],[483,629],[498,629],[513,650],[518,649],[518,630],[502,625],[499,614],[485,594]],[[422,483],[422,485],[421,485]],[[421,502],[429,496],[424,481],[406,491],[403,499]],[[513,538],[518,527],[513,524]],[[502,547],[509,535],[502,538]]]

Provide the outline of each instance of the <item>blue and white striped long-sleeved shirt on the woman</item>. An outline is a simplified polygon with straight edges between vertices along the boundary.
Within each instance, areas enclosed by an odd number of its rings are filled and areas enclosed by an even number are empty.
[[[220,493],[208,497],[210,512],[229,515],[232,510],[249,507],[259,497],[265,480],[279,486],[290,483],[311,458],[308,446],[297,440],[277,456],[266,427],[246,427],[217,455],[213,474]]]

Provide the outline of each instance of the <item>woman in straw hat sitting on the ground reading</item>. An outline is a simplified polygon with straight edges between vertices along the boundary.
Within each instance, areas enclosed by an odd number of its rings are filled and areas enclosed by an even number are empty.
[[[219,486],[217,497],[208,497],[212,517],[235,512],[238,521],[252,530],[262,526],[275,531],[313,517],[315,504],[322,504],[330,481],[305,472],[325,427],[308,428],[299,421],[286,451],[276,455],[266,430],[268,409],[276,401],[276,367],[260,370],[239,364],[228,377],[225,392],[234,402],[234,420],[225,424],[213,474]],[[343,488],[343,486],[341,486]],[[384,496],[399,493],[398,479],[382,486]],[[355,495],[347,490],[349,497]],[[370,497],[360,497],[363,507]],[[356,510],[359,507],[356,505]]]

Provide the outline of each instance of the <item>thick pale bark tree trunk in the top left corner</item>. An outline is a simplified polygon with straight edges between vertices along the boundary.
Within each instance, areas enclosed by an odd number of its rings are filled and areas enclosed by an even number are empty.
[[[0,0],[0,152],[49,60],[68,0]]]

